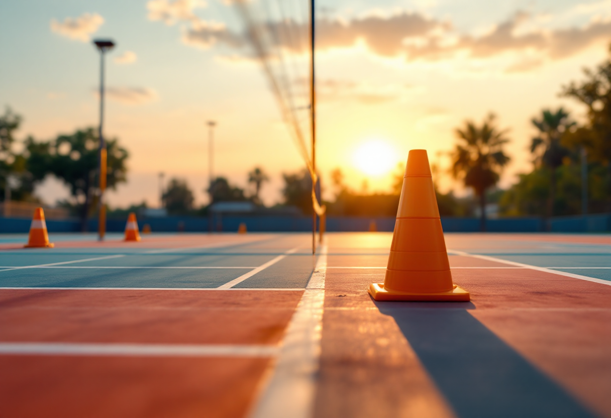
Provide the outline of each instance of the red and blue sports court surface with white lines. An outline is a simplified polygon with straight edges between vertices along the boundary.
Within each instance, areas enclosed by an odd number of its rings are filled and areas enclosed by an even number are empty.
[[[611,417],[611,237],[446,234],[472,300],[378,303],[391,239],[0,236],[0,417]]]

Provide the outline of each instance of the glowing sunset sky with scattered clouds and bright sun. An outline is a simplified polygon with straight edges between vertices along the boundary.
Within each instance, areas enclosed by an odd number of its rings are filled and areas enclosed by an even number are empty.
[[[262,1],[251,2],[255,15],[274,18]],[[307,14],[307,1],[283,4]],[[316,16],[316,160],[326,197],[336,168],[357,191],[364,181],[370,193],[389,191],[416,148],[440,167],[442,191],[464,193],[444,172],[454,130],[489,112],[510,128],[500,185],[511,185],[531,167],[530,119],[564,106],[581,120],[584,109],[558,94],[606,59],[611,41],[611,0],[319,0]],[[104,129],[130,159],[128,182],[109,192],[109,204],[159,205],[159,172],[186,179],[204,204],[206,122],[215,120],[214,174],[248,188],[247,172],[263,167],[271,181],[262,197],[272,205],[282,173],[305,164],[243,28],[226,0],[3,0],[0,106],[23,115],[18,138],[97,126],[91,42],[111,38]],[[287,39],[276,50],[296,68],[297,85],[307,59]],[[54,204],[68,191],[48,178],[36,194]]]

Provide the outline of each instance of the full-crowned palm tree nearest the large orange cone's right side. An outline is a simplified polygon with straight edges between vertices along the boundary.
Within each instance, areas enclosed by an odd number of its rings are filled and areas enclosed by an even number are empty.
[[[499,182],[500,172],[510,158],[503,152],[508,130],[496,127],[496,116],[489,114],[481,127],[466,120],[463,128],[456,128],[458,144],[451,153],[452,175],[472,187],[480,200],[480,229],[486,230],[486,190]]]

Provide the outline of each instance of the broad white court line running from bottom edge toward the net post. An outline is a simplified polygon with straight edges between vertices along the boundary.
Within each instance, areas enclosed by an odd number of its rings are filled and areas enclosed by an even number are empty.
[[[316,379],[323,330],[324,281],[327,246],[288,324],[273,372],[251,411],[251,418],[309,418],[316,395]]]

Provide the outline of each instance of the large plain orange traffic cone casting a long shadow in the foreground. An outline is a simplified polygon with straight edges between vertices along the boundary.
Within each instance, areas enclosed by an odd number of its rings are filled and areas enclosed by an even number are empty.
[[[452,282],[426,150],[409,152],[386,277],[369,293],[376,301],[469,301]]]

